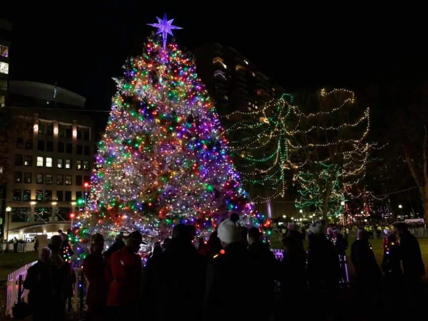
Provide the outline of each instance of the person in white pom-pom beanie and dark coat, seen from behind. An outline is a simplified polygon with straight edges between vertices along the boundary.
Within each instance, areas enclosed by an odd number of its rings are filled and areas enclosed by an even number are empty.
[[[251,293],[266,293],[270,288],[271,271],[250,253],[241,241],[241,226],[233,219],[225,219],[217,228],[224,251],[208,264],[204,297],[204,321],[217,321],[218,309],[229,305],[227,320],[267,320],[264,309],[242,309],[248,305]],[[260,306],[271,304],[268,296]],[[226,319],[225,319],[226,320]]]

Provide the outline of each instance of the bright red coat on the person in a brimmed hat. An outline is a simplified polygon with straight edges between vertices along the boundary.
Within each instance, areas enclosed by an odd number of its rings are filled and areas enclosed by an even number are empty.
[[[141,257],[129,246],[112,254],[106,269],[106,281],[110,283],[108,306],[131,307],[138,302],[141,282]]]

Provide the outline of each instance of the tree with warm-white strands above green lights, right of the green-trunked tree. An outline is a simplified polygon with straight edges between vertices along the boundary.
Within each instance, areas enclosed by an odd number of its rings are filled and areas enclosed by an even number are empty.
[[[287,132],[304,160],[302,170],[293,178],[301,187],[296,207],[310,207],[327,220],[344,211],[344,184],[355,184],[365,175],[374,145],[364,142],[369,108],[356,117],[355,94],[346,89],[322,89],[316,99],[306,101],[305,107],[316,112],[294,109],[298,127]]]

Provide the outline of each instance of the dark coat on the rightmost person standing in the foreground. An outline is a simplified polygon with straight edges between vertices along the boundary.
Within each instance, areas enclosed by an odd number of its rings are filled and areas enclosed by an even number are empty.
[[[421,277],[425,274],[421,248],[415,236],[409,231],[400,235],[400,258],[403,263],[404,276]]]

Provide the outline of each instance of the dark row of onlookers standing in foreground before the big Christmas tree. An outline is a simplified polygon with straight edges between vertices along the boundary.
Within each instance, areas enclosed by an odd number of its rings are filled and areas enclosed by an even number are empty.
[[[278,316],[284,315],[284,307],[307,304],[308,316],[340,313],[338,307],[326,309],[337,302],[344,282],[339,258],[345,256],[348,241],[338,229],[323,221],[312,223],[306,251],[304,235],[289,223],[282,238],[283,260],[278,261],[260,230],[246,229],[238,220],[235,215],[223,220],[207,241],[196,239],[194,226],[178,224],[171,238],[153,244],[147,260],[137,254],[143,243],[138,231],[118,234],[106,251],[103,235],[93,234],[83,261],[89,281],[87,320],[282,320]],[[420,306],[425,268],[419,244],[405,225],[397,224],[395,230],[399,239],[391,231],[384,241],[385,283],[387,289],[400,291],[401,306],[407,290]],[[351,260],[360,303],[375,309],[383,281],[368,237],[364,229],[358,231]],[[24,286],[30,290],[36,321],[64,319],[75,282],[71,265],[61,256],[67,243],[61,234],[53,236],[28,272]],[[53,302],[55,309],[46,309],[46,302]]]

